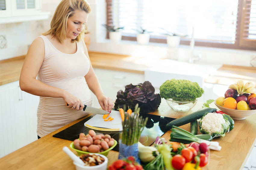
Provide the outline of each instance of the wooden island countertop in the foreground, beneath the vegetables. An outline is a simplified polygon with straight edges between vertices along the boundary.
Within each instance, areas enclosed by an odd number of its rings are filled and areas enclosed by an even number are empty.
[[[202,106],[198,102],[196,106],[187,113],[175,112],[170,109],[165,100],[162,100],[157,111],[151,113],[155,115],[179,118],[192,113]],[[214,104],[211,107],[216,107]],[[90,116],[90,114],[88,115]],[[86,116],[87,117],[87,116]],[[62,151],[64,146],[69,147],[71,141],[54,138],[52,135],[70,127],[71,125],[85,119],[78,119],[54,132],[36,140],[0,159],[0,169],[75,169],[72,160]],[[247,117],[245,120],[235,120],[235,127],[226,134],[224,138],[215,138],[222,149],[220,151],[210,151],[209,165],[203,169],[243,169],[245,162],[256,143],[256,114]],[[181,126],[189,131],[189,124]],[[163,138],[170,139],[170,131],[165,133]],[[8,142],[8,141],[6,141]],[[18,142],[18,141],[17,141]],[[72,150],[73,151],[73,150]],[[75,151],[73,151],[77,155]],[[108,154],[108,165],[117,160],[118,152],[110,151]]]

